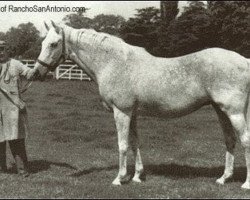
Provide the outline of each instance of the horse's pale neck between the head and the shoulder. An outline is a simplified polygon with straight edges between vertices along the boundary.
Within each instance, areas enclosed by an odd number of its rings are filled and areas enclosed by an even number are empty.
[[[88,30],[86,30],[87,32]],[[86,73],[96,82],[98,76],[101,75],[102,70],[107,65],[112,65],[114,60],[124,58],[118,54],[120,51],[107,51],[107,46],[104,46],[103,41],[107,39],[106,36],[102,40],[95,40],[95,37],[84,30],[77,30],[69,28],[66,29],[67,43],[69,47],[70,58],[76,62]],[[93,32],[98,36],[100,33]],[[100,36],[100,35],[99,35]],[[110,45],[110,43],[108,43]],[[105,49],[106,48],[106,49]]]

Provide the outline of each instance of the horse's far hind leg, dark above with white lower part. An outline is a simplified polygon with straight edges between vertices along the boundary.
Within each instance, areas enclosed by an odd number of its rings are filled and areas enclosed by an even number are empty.
[[[218,106],[214,105],[214,108],[219,117],[227,148],[225,170],[223,175],[216,180],[216,183],[224,184],[233,175],[236,136],[228,116],[224,112],[222,112]]]

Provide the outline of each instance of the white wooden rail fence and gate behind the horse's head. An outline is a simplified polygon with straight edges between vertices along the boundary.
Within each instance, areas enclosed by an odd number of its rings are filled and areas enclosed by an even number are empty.
[[[22,60],[22,63],[27,64],[28,67],[33,68],[35,60]],[[70,60],[66,60],[64,63],[60,64],[55,72],[50,72],[54,78],[58,79],[68,79],[68,80],[88,80],[91,78],[76,64]]]

